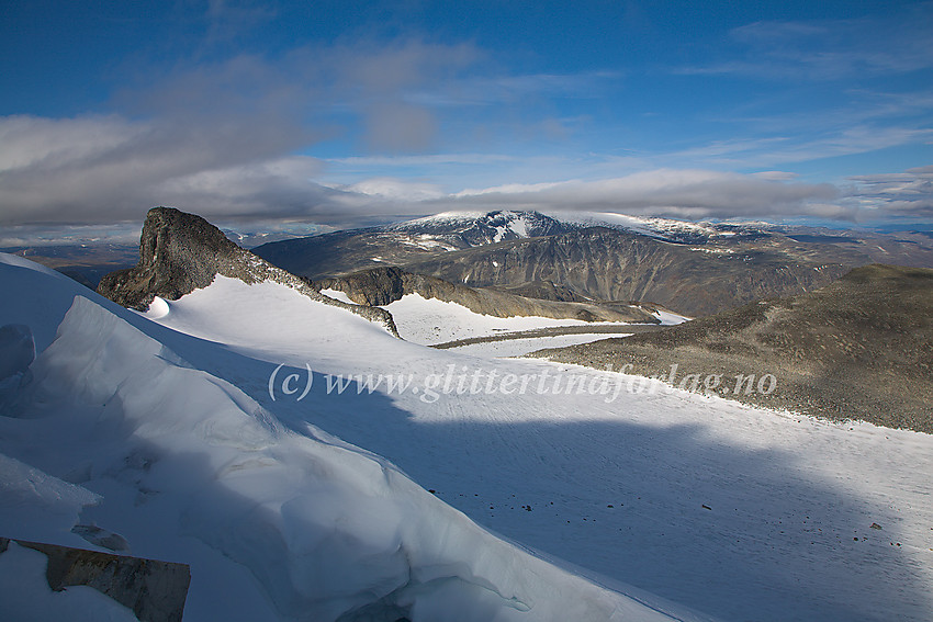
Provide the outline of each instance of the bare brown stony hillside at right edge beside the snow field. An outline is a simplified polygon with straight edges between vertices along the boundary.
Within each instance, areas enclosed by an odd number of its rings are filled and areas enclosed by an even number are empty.
[[[731,399],[933,433],[933,270],[867,265],[809,294],[530,355],[628,364],[630,373],[698,391],[705,386],[695,380],[720,376],[712,392]],[[768,373],[771,392],[757,385]],[[740,374],[755,376],[751,392],[737,391]]]

